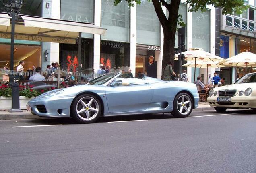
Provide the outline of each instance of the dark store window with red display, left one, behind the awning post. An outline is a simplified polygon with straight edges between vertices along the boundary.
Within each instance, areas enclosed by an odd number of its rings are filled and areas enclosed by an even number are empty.
[[[78,44],[60,44],[60,64],[63,70],[75,72],[78,69]],[[93,72],[93,40],[82,39],[81,72]]]

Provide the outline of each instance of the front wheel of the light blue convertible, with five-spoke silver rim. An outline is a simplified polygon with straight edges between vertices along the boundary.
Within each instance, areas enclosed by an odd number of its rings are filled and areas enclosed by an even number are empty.
[[[101,115],[101,107],[97,97],[83,94],[74,100],[71,113],[78,123],[94,123]]]

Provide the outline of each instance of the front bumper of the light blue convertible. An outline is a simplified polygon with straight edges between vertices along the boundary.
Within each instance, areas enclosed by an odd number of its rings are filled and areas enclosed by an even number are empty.
[[[62,97],[49,97],[32,99],[28,102],[31,107],[31,113],[40,117],[70,117],[70,106],[76,95],[62,96]],[[44,105],[46,109],[42,111],[39,105]]]

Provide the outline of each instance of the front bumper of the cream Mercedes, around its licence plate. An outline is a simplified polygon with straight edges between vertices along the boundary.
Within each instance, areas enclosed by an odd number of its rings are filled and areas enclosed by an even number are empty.
[[[256,97],[252,96],[234,96],[231,102],[217,102],[217,97],[208,97],[207,101],[211,107],[256,108]]]

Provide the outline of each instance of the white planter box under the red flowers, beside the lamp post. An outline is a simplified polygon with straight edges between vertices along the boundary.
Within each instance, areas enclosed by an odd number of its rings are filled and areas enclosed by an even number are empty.
[[[20,96],[20,108],[27,109],[26,105],[27,102],[30,101],[32,98],[28,98],[25,96]],[[0,110],[9,110],[12,108],[12,97],[3,97],[0,96]]]

